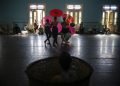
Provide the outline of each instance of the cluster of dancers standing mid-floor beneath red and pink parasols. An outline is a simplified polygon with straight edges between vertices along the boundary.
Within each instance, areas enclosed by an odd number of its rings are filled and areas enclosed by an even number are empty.
[[[51,41],[50,38],[53,37],[53,46],[56,47],[58,46],[58,34],[59,34],[59,30],[58,30],[58,21],[57,21],[57,17],[54,17],[54,20],[52,22],[49,21],[49,19],[46,19],[45,25],[44,25],[44,31],[46,34],[46,39],[44,41],[45,45],[49,44],[51,46]],[[66,22],[66,18],[63,18],[63,22],[60,23],[62,26],[62,30],[61,30],[61,39],[62,42],[61,44],[68,44],[69,43],[69,39],[71,37],[72,34],[75,33],[75,24],[74,23],[67,23]]]

